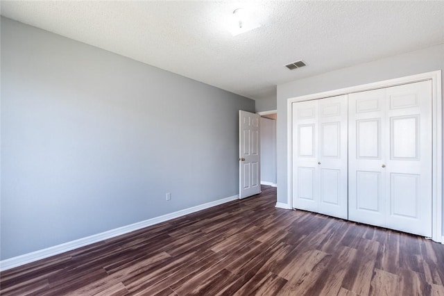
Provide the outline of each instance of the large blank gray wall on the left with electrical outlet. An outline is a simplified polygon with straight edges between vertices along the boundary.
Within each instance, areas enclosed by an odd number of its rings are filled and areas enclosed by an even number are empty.
[[[2,17],[1,259],[237,195],[239,109],[255,101]]]

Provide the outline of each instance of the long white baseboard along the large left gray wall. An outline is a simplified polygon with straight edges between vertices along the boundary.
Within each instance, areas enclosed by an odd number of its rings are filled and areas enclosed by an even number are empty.
[[[131,231],[139,230],[144,227],[148,227],[154,224],[165,222],[177,217],[182,217],[183,215],[188,215],[194,212],[205,210],[205,208],[211,208],[212,206],[219,206],[219,204],[225,204],[226,202],[232,202],[233,200],[239,199],[239,195],[234,195],[232,197],[226,197],[223,199],[215,200],[214,202],[207,202],[206,204],[200,204],[198,206],[193,206],[191,208],[185,208],[174,213],[169,213],[159,217],[154,217],[148,220],[137,222],[134,224],[129,224],[116,229],[111,229],[102,233],[97,233],[92,236],[87,236],[86,238],[79,238],[78,240],[71,240],[70,242],[65,242],[60,245],[53,247],[48,247],[46,249],[40,249],[35,252],[28,254],[8,258],[6,260],[0,261],[0,271],[9,270],[11,268],[16,268],[17,266],[31,263],[43,258],[48,258],[54,255],[62,254],[85,245],[91,245],[94,242],[100,242],[102,240],[107,240],[108,238],[114,238],[115,236],[121,236],[122,234],[129,233]]]

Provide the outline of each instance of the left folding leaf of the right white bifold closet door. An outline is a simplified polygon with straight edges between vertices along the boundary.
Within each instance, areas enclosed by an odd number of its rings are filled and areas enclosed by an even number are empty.
[[[385,226],[385,90],[348,96],[348,218]]]

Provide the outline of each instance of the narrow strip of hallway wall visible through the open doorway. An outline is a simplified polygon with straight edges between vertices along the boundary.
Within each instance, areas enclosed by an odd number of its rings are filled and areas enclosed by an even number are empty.
[[[261,117],[261,181],[276,183],[276,120]]]

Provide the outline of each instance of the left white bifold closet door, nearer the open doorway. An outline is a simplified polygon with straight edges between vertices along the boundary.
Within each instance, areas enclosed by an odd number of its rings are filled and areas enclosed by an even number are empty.
[[[292,107],[293,208],[347,219],[347,95]]]

